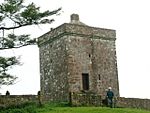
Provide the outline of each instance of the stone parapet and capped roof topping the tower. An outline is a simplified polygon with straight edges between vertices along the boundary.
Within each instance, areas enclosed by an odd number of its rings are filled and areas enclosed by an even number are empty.
[[[46,34],[40,36],[38,38],[38,46],[41,46],[47,42],[51,42],[64,35],[79,35],[87,38],[94,37],[104,40],[116,39],[115,30],[87,26],[84,23],[80,22],[79,15],[72,14],[70,23],[64,23],[57,28],[47,32]]]

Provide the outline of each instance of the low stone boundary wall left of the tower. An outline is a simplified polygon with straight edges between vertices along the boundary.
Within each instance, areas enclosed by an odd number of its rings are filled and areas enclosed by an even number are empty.
[[[0,107],[20,105],[26,102],[38,102],[37,95],[0,95]]]

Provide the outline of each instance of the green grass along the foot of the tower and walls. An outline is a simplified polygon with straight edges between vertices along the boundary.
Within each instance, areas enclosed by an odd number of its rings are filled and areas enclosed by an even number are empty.
[[[0,113],[150,113],[150,111],[129,108],[69,107],[58,104],[45,104],[38,107],[36,104],[28,104],[0,109]]]

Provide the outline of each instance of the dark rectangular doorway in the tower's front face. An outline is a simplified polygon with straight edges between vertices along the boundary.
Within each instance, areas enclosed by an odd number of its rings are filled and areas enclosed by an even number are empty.
[[[89,74],[82,73],[82,86],[83,90],[89,90]]]

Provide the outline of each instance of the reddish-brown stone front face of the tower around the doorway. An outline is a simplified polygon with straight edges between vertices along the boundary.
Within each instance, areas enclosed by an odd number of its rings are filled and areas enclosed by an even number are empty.
[[[82,91],[82,73],[88,73],[90,92],[104,98],[111,86],[119,96],[115,41],[79,35],[70,35],[65,40],[69,91]]]

